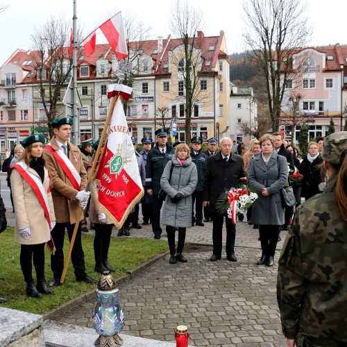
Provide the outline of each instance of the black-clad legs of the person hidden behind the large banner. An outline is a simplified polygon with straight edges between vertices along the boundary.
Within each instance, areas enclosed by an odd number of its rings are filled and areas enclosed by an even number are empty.
[[[113,224],[94,223],[94,257],[96,264],[103,264],[108,260]]]

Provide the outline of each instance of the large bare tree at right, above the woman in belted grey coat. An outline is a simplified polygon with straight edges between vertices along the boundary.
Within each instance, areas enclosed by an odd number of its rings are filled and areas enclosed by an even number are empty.
[[[306,8],[304,0],[244,1],[243,38],[266,81],[273,131],[279,129],[285,85],[294,76],[292,55],[310,40]]]

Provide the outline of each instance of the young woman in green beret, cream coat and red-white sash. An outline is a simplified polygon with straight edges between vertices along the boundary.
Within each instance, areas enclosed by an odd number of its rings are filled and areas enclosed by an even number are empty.
[[[51,229],[56,223],[48,171],[42,158],[44,135],[26,137],[24,152],[12,168],[11,186],[15,204],[15,242],[21,245],[20,264],[26,282],[26,294],[40,298],[53,294],[46,286],[44,276],[44,244],[51,252]],[[34,285],[32,268],[35,266],[37,285]]]

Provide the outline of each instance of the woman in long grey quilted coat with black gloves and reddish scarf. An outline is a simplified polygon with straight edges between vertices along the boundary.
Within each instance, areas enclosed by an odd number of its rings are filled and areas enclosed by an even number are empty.
[[[175,264],[176,260],[187,262],[182,252],[185,246],[185,230],[192,226],[192,194],[197,183],[198,172],[190,157],[189,147],[187,144],[178,144],[175,156],[167,163],[160,179],[160,185],[167,193],[162,210],[162,223],[167,226],[167,241],[171,254],[170,264]],[[177,253],[176,228],[178,228]]]

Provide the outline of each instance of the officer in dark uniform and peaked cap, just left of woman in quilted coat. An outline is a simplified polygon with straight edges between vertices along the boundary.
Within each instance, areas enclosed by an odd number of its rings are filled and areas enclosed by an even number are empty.
[[[173,147],[167,144],[167,135],[169,130],[158,129],[155,131],[157,142],[151,151],[149,151],[146,162],[146,189],[149,195],[153,196],[152,208],[152,230],[155,239],[160,239],[162,228],[160,227],[160,209],[162,201],[158,198],[160,191],[160,178],[167,162],[175,154]]]

